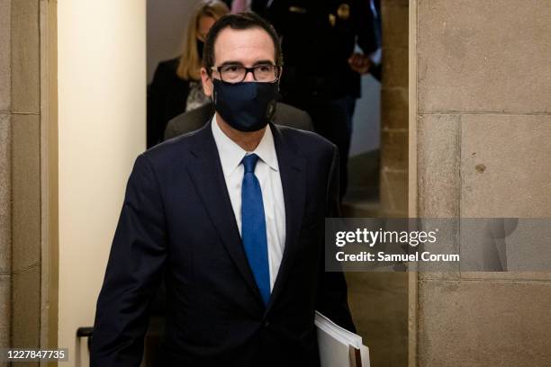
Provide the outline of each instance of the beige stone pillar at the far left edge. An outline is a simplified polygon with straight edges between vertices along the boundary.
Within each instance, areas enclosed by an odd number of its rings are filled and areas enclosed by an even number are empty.
[[[0,1],[0,345],[38,347],[40,1]]]

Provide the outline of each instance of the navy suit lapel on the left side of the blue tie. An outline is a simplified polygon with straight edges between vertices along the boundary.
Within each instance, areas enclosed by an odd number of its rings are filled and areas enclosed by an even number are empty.
[[[243,250],[211,129],[211,123],[208,123],[203,129],[197,131],[200,136],[197,137],[198,144],[190,151],[192,157],[189,159],[187,171],[212,224],[226,246],[231,259],[238,267],[239,273],[256,295],[257,300],[264,304]]]

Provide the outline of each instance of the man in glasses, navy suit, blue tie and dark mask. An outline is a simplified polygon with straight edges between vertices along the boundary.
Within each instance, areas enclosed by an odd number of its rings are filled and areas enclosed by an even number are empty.
[[[91,365],[138,366],[162,273],[160,366],[319,366],[314,311],[355,331],[342,273],[324,271],[339,204],[337,148],[269,123],[282,57],[273,28],[227,15],[205,44],[201,130],[141,154],[100,292]]]

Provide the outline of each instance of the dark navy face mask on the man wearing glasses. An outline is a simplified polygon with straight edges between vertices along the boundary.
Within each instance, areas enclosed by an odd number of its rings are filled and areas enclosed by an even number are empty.
[[[277,82],[231,84],[212,79],[212,83],[214,109],[233,129],[257,131],[272,121],[279,96]]]

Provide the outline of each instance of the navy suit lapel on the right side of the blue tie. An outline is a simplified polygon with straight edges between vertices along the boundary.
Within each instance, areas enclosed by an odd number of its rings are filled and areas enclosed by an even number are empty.
[[[279,294],[288,281],[293,265],[294,254],[299,246],[299,235],[303,224],[304,200],[306,195],[306,160],[297,155],[282,132],[270,125],[276,145],[279,173],[285,201],[285,250],[277,273],[276,283],[266,307],[266,313],[271,309]]]

